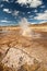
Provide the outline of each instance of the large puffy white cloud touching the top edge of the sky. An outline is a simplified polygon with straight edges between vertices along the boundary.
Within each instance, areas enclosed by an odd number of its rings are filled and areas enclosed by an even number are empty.
[[[37,8],[38,5],[42,4],[40,0],[17,0],[16,2],[22,5],[28,3],[31,8]]]

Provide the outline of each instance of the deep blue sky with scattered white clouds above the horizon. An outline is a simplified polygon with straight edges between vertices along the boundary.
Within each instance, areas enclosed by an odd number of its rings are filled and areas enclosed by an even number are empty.
[[[0,25],[47,22],[47,0],[0,0]]]

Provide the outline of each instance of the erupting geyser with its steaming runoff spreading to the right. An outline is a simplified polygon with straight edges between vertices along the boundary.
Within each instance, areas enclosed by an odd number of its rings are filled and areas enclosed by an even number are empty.
[[[21,35],[32,37],[32,38],[39,38],[42,35],[38,33],[35,33],[31,27],[25,17],[21,20],[19,23],[21,27]]]

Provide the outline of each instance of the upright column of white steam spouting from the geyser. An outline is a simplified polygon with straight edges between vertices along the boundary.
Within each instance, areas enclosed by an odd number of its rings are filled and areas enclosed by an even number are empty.
[[[31,36],[32,31],[31,31],[31,28],[30,28],[28,25],[30,25],[30,24],[28,24],[27,20],[26,20],[25,17],[23,17],[23,19],[21,20],[21,22],[20,22],[21,34],[22,34],[23,36]]]

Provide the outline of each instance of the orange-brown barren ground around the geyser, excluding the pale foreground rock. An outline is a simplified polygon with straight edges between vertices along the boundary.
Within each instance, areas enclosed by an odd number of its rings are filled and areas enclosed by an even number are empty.
[[[20,28],[16,27],[15,29],[12,29],[12,27],[5,31],[0,29],[0,61],[3,60],[10,48],[19,48],[37,59],[47,68],[47,31],[44,31],[44,28],[33,29],[36,34],[40,34],[40,36],[22,36],[20,34]],[[37,71],[42,70],[39,69]]]

